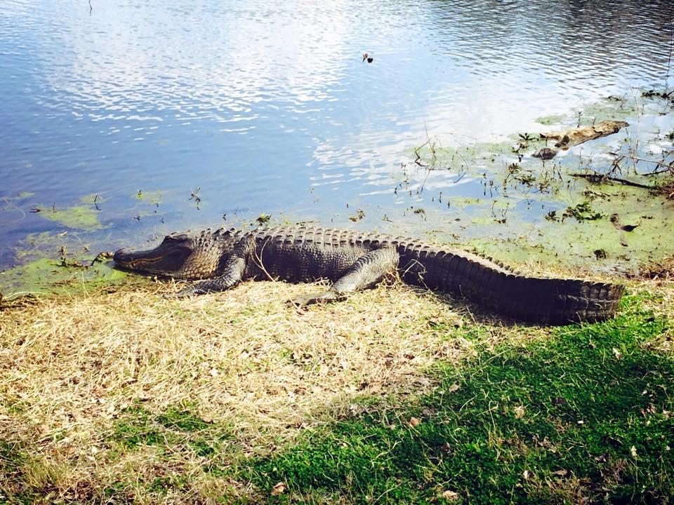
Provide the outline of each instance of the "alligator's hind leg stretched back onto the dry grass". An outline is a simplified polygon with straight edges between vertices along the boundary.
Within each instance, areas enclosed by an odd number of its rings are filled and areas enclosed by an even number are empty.
[[[399,256],[395,248],[381,248],[359,257],[343,276],[337,279],[329,290],[293,300],[297,307],[318,302],[344,299],[348,295],[375,285],[381,278],[398,266]]]

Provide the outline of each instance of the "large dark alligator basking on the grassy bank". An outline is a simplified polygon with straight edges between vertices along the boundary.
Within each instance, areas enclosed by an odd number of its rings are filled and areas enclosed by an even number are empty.
[[[412,238],[308,227],[207,229],[170,234],[156,248],[114,253],[116,267],[195,280],[178,297],[224,291],[246,279],[328,279],[298,307],[344,299],[397,271],[411,285],[448,292],[538,324],[604,321],[623,285],[518,274],[500,262]]]

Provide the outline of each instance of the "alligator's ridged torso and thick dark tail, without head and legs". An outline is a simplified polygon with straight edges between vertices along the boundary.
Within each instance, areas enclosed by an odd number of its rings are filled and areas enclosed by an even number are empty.
[[[255,239],[261,260],[251,272],[255,276],[336,281],[357,257],[392,247],[399,254],[398,270],[405,282],[535,323],[603,321],[615,315],[623,294],[622,285],[524,276],[471,253],[385,234],[300,226],[260,229]]]

